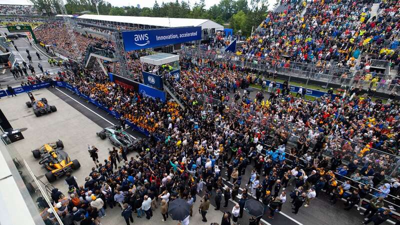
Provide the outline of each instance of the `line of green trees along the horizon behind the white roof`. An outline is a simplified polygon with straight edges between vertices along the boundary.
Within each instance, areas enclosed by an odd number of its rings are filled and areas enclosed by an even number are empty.
[[[39,10],[54,6],[56,0],[30,0]],[[175,0],[174,2],[158,3],[149,7],[138,8],[135,6],[112,6],[104,0],[66,0],[65,8],[68,14],[96,14],[96,3],[99,14],[128,15],[128,16],[152,16],[152,17],[176,17],[176,18],[203,18],[233,28],[233,32],[241,31],[241,35],[249,35],[252,27],[256,28],[265,18],[268,10],[267,0],[220,0],[208,9],[205,8],[204,0],[199,0],[192,7],[188,1]]]

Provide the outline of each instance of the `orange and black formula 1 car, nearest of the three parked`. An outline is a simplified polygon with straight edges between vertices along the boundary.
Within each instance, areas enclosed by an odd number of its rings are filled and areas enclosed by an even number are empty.
[[[32,150],[33,157],[40,158],[39,164],[48,170],[44,175],[49,182],[55,181],[57,176],[80,167],[79,161],[77,159],[71,161],[68,154],[62,150],[63,147],[62,141],[57,140]]]

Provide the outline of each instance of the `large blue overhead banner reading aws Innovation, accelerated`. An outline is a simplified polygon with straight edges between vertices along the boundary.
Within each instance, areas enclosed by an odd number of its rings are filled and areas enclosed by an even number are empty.
[[[201,40],[201,26],[122,31],[125,51]]]

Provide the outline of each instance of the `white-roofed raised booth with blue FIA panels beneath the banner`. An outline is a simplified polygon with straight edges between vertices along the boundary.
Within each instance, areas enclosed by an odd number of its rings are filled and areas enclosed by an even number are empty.
[[[157,53],[140,57],[143,83],[163,89],[162,78],[170,74],[175,80],[180,79],[179,55]]]

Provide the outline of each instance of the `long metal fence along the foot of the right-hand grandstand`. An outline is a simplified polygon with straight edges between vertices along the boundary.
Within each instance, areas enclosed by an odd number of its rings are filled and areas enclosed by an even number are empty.
[[[217,63],[225,63],[227,66],[253,68],[258,71],[279,72],[279,78],[289,81],[304,82],[322,87],[328,86],[356,86],[363,89],[376,89],[378,92],[390,93],[399,91],[400,85],[397,83],[386,83],[386,79],[380,78],[378,81],[362,80],[361,77],[370,73],[371,77],[384,77],[384,74],[368,72],[365,70],[355,70],[334,65],[319,65],[303,62],[293,62],[285,59],[261,58],[248,55],[236,55],[234,53],[201,50],[194,48],[183,48],[180,55],[186,59],[195,60],[201,58],[201,66],[207,66],[207,60]],[[384,80],[384,81],[383,81]]]

